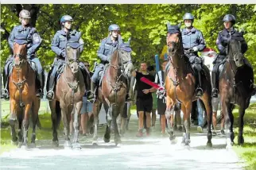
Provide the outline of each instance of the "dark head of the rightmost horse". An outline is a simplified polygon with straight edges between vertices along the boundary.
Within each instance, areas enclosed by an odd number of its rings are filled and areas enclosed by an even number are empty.
[[[235,61],[237,67],[241,67],[244,64],[244,56],[242,54],[242,44],[239,40],[231,39],[227,47],[227,56],[230,60]]]

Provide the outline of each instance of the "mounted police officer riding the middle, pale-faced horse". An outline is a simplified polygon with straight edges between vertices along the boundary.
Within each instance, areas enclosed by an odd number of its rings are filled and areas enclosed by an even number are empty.
[[[123,44],[122,37],[120,36],[120,27],[116,24],[112,24],[108,27],[109,36],[101,41],[97,56],[101,62],[95,68],[95,72],[91,77],[91,95],[88,99],[93,99],[95,87],[99,85],[100,76],[103,74],[105,64],[108,64],[111,60],[111,55],[114,50],[118,48],[120,44]]]

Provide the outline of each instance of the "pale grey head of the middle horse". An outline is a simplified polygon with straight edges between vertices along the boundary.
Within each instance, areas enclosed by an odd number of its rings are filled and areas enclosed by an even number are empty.
[[[120,44],[118,48],[118,56],[119,56],[118,65],[121,65],[121,67],[124,68],[125,75],[128,75],[129,77],[131,75],[131,72],[134,69],[130,52],[131,52],[130,40],[127,43]]]

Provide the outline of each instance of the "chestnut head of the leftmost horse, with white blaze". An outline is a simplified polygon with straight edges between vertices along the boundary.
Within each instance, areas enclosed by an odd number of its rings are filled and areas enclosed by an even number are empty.
[[[21,68],[21,65],[27,60],[27,44],[28,42],[25,40],[14,40],[14,65],[16,68]]]

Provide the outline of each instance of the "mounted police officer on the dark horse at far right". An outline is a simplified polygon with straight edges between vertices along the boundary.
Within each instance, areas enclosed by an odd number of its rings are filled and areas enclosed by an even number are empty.
[[[246,41],[243,38],[243,33],[239,33],[235,30],[235,17],[231,14],[227,14],[223,17],[223,25],[224,29],[223,31],[220,31],[218,33],[217,37],[217,48],[219,50],[219,55],[215,58],[215,61],[213,62],[214,67],[211,72],[212,76],[212,97],[217,98],[218,97],[218,90],[217,90],[217,83],[218,83],[218,70],[220,67],[223,67],[223,60],[227,56],[227,46],[228,42],[231,40],[231,37],[237,38],[241,43],[241,52],[244,54],[247,50],[247,44]],[[254,90],[254,75],[253,75],[253,68],[250,65],[249,61],[245,58],[245,64],[251,68],[250,77],[251,77],[251,87],[253,87],[252,90]]]

